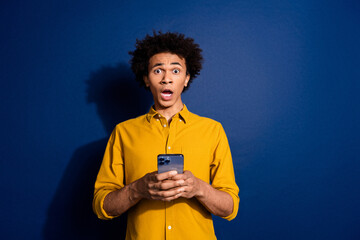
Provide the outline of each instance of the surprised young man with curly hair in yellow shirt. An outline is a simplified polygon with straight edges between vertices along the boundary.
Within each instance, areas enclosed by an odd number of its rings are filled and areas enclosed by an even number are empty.
[[[211,214],[228,220],[237,214],[225,132],[181,100],[201,70],[201,51],[182,34],[154,33],[130,52],[136,79],[150,89],[154,105],[114,129],[93,201],[101,219],[128,211],[126,239],[216,239]],[[183,174],[157,173],[157,155],[170,153],[184,155]]]

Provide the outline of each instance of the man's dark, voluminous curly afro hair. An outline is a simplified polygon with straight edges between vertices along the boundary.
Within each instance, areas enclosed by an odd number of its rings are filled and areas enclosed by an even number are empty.
[[[156,33],[154,31],[153,36],[147,34],[143,40],[136,39],[135,47],[135,51],[129,52],[132,55],[131,70],[134,72],[136,80],[145,88],[147,87],[143,77],[148,75],[149,60],[158,53],[169,52],[185,58],[187,74],[190,74],[190,79],[184,91],[200,74],[203,62],[202,49],[199,44],[194,43],[193,38],[186,38],[184,34],[160,31]]]

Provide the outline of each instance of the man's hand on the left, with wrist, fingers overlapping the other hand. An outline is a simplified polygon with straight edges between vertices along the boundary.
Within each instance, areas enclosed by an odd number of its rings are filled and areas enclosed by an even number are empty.
[[[170,171],[158,174],[152,172],[146,174],[144,177],[130,184],[130,189],[133,194],[130,195],[132,199],[152,199],[161,201],[171,201],[180,197],[180,193],[184,190],[181,188],[183,180],[173,180],[177,175],[176,171]]]

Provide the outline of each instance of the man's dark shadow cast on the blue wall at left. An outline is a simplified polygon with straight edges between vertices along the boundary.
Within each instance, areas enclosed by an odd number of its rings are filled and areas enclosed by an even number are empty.
[[[96,104],[108,135],[117,123],[146,113],[152,102],[126,64],[102,67],[91,74],[87,87],[87,101]],[[81,146],[73,154],[48,209],[44,239],[125,239],[126,215],[103,221],[92,211],[107,140]]]

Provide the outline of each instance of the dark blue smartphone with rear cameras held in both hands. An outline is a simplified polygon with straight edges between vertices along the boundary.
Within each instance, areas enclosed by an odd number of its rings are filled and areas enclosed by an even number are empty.
[[[182,154],[159,154],[158,155],[158,173],[177,171],[183,173],[184,155]]]

